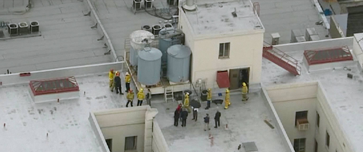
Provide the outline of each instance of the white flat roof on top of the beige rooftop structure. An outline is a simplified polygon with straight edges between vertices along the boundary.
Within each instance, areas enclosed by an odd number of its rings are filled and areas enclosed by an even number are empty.
[[[200,0],[196,3],[196,11],[185,11],[195,35],[262,29],[262,24],[253,13],[253,6],[248,0],[223,2]],[[232,15],[234,8],[237,17]]]

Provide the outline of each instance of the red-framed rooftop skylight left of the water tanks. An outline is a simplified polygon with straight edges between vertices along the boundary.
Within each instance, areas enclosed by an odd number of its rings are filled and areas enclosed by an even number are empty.
[[[79,86],[74,76],[56,79],[32,80],[29,82],[34,96],[79,91]]]

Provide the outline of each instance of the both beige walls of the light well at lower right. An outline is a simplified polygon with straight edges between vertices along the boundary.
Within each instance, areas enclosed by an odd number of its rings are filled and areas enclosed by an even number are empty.
[[[318,152],[352,152],[319,82],[274,85],[266,87],[266,91],[291,144],[294,139],[306,138],[306,152],[314,152],[316,139]],[[309,129],[298,131],[294,125],[295,112],[305,110],[308,111]],[[316,112],[320,116],[319,127]],[[326,147],[326,130],[330,135],[329,148]]]

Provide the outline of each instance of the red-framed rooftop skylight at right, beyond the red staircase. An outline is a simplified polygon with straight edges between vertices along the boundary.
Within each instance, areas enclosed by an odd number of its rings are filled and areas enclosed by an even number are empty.
[[[332,52],[339,50],[339,55],[332,56]],[[325,54],[326,57],[324,59],[314,59],[315,55]],[[331,63],[331,62],[338,62],[338,61],[348,61],[353,60],[353,56],[349,51],[349,48],[347,46],[343,47],[334,47],[334,48],[323,48],[323,49],[317,49],[317,50],[305,50],[304,56],[307,60],[307,63],[309,65],[315,65],[315,64],[323,64],[323,63]]]

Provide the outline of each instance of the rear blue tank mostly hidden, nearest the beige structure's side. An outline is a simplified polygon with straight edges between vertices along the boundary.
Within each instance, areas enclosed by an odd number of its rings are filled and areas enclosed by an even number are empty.
[[[159,49],[163,53],[161,61],[163,64],[167,63],[168,55],[167,50],[171,45],[181,44],[181,32],[176,31],[174,28],[163,28],[159,31]]]

